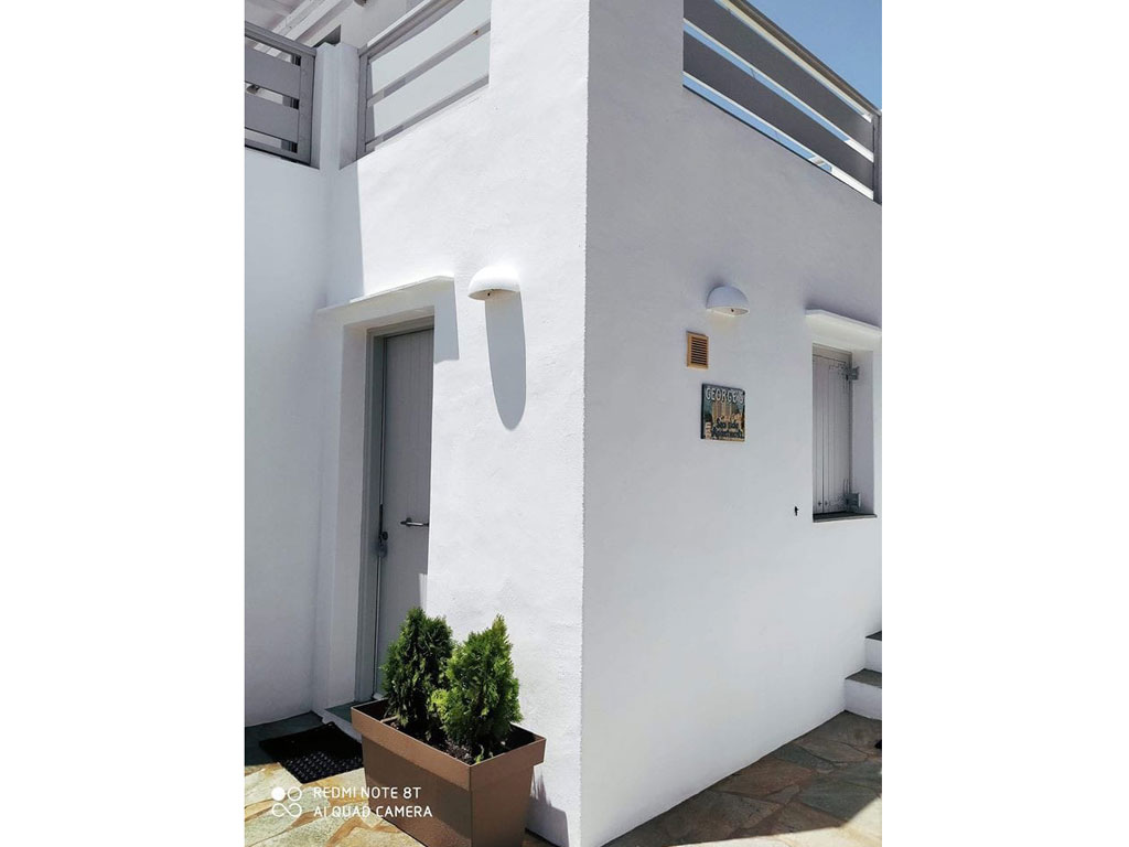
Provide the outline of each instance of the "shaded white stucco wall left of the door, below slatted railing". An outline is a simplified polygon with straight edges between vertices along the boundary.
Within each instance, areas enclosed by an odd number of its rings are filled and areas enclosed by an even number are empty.
[[[323,304],[322,174],[255,150],[245,166],[245,715],[313,705]],[[208,343],[207,338],[196,343]]]

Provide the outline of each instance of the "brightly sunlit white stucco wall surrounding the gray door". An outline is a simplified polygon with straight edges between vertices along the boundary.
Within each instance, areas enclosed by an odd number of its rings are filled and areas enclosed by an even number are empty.
[[[434,313],[428,606],[506,617],[525,724],[549,739],[530,826],[580,832],[587,1],[493,0],[490,84],[334,178],[323,314],[316,705],[352,698],[365,329]],[[352,245],[352,246],[350,246]],[[482,304],[487,264],[519,298]]]

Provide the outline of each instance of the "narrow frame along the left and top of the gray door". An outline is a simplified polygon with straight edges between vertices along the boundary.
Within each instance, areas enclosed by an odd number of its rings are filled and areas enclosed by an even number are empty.
[[[406,321],[391,326],[377,326],[365,335],[365,447],[364,483],[360,512],[360,585],[357,599],[357,673],[353,699],[368,701],[376,691],[376,650],[380,609],[380,571],[384,559],[374,556],[379,526],[373,526],[373,498],[384,495],[384,384],[385,342],[395,335],[435,330],[434,317]],[[432,367],[435,366],[432,340]],[[383,505],[383,503],[382,503]],[[375,558],[375,566],[369,567]]]

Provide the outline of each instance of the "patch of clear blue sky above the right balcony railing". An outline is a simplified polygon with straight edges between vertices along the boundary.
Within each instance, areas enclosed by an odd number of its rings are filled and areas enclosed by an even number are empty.
[[[882,108],[882,0],[752,0]]]

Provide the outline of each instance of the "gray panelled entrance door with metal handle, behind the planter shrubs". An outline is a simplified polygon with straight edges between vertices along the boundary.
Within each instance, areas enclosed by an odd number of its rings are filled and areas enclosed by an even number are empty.
[[[425,602],[431,514],[432,337],[432,330],[422,330],[371,342],[369,552],[361,575],[358,699],[382,690],[379,666],[388,644],[408,610]]]

